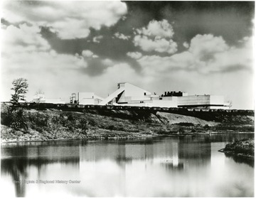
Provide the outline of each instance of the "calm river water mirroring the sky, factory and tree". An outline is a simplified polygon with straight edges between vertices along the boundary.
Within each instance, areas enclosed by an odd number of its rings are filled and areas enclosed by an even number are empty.
[[[1,145],[11,197],[252,197],[254,165],[218,152],[254,134]]]

